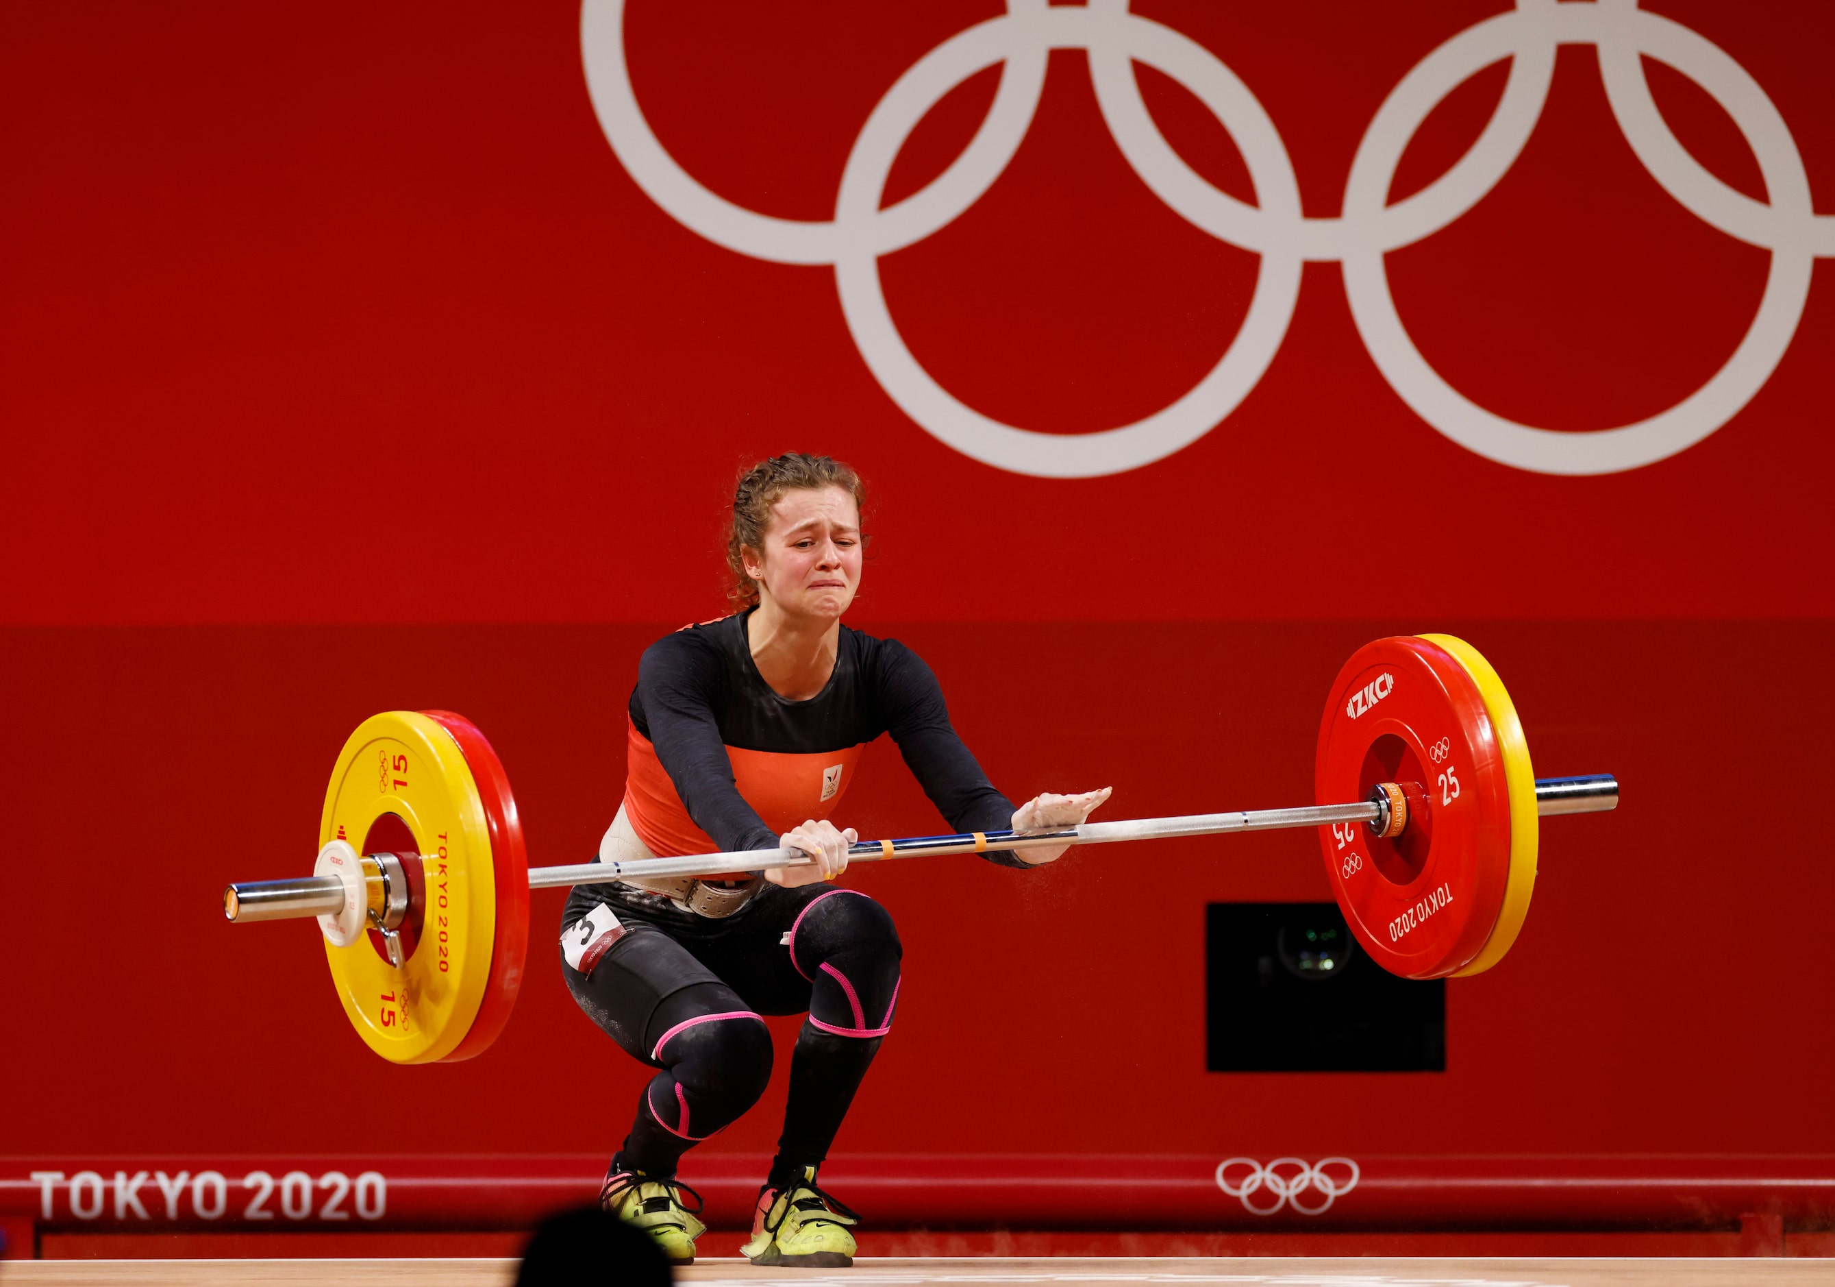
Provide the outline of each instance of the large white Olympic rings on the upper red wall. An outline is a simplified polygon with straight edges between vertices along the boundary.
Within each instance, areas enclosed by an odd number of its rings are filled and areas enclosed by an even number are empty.
[[[1558,44],[1598,48],[1611,110],[1631,151],[1670,196],[1719,231],[1771,252],[1758,314],[1727,364],[1666,411],[1591,433],[1518,424],[1453,389],[1409,340],[1384,266],[1385,252],[1451,224],[1516,163],[1541,116]],[[1301,213],[1281,134],[1237,73],[1196,40],[1129,13],[1127,0],[1090,0],[1088,7],[1007,0],[1006,15],[918,59],[866,118],[829,220],[758,215],[708,191],[675,163],[631,88],[624,0],[584,0],[580,46],[600,127],[651,200],[701,237],[743,255],[833,264],[848,329],[892,400],[958,452],[1017,474],[1119,474],[1209,433],[1273,362],[1294,316],[1305,261],[1341,264],[1358,334],[1384,378],[1417,415],[1461,446],[1541,474],[1639,468],[1705,439],[1771,378],[1796,334],[1815,259],[1835,255],[1835,217],[1815,213],[1802,154],[1758,81],[1719,46],[1639,9],[1637,0],[1518,0],[1516,9],[1440,44],[1402,77],[1371,119],[1351,162],[1338,218]],[[1088,51],[1103,119],[1160,200],[1218,241],[1261,255],[1248,316],[1217,365],[1171,406],[1097,433],[1037,433],[960,402],[912,356],[879,281],[881,255],[954,220],[1006,169],[1039,106],[1051,50]],[[1683,149],[1650,95],[1642,55],[1692,79],[1732,118],[1758,158],[1767,202],[1729,187]],[[1428,114],[1462,81],[1505,59],[1510,73],[1503,97],[1472,149],[1422,191],[1387,204],[1402,152]],[[1218,191],[1171,149],[1141,101],[1134,62],[1173,77],[1217,116],[1248,163],[1259,204]],[[1000,88],[969,147],[927,187],[881,209],[886,174],[912,129],[945,94],[996,64]]]

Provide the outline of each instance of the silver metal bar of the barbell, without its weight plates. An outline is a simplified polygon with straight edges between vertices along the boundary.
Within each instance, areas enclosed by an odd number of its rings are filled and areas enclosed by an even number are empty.
[[[1380,788],[1378,788],[1380,791]],[[1618,780],[1607,773],[1536,780],[1536,813],[1602,813],[1618,808]],[[940,854],[980,854],[1022,850],[1040,845],[1114,845],[1118,841],[1162,841],[1182,835],[1222,835],[1228,832],[1273,832],[1343,823],[1387,823],[1384,800],[1356,804],[1312,804],[1292,810],[1237,810],[1229,813],[1191,813],[1185,817],[1147,817],[1118,823],[1081,823],[1050,832],[967,832],[958,835],[914,835],[897,841],[861,841],[848,846],[850,863],[875,863],[894,857]],[[815,859],[802,850],[751,848],[725,854],[684,854],[646,857],[629,863],[574,863],[571,867],[534,867],[530,889],[600,885],[611,879],[653,879],[659,876],[719,876],[756,872],[767,867],[809,867]],[[279,881],[244,881],[224,889],[224,920],[255,922],[292,916],[317,916],[343,905],[343,885],[334,876],[306,876]]]

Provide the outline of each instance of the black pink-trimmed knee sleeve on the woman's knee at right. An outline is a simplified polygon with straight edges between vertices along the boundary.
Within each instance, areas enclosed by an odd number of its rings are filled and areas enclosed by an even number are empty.
[[[831,889],[804,907],[791,962],[809,980],[809,1023],[839,1037],[883,1037],[899,1001],[899,931],[866,894]]]

